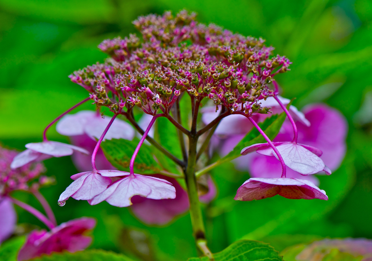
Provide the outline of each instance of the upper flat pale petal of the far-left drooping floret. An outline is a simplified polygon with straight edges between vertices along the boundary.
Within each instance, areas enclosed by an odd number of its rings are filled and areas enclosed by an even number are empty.
[[[25,145],[26,148],[32,149],[33,151],[48,154],[54,157],[62,157],[71,155],[74,151],[67,146],[63,146],[59,144],[61,142],[35,142],[35,143],[27,143]]]

